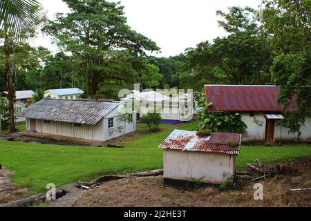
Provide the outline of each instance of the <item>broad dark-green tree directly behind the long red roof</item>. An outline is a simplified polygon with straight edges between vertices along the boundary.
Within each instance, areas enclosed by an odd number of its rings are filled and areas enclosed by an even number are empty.
[[[271,52],[263,47],[267,41],[252,15],[252,8],[229,8],[218,11],[218,21],[229,35],[205,41],[187,50],[184,66],[188,84],[266,84],[269,83]],[[187,77],[188,75],[188,77]]]

